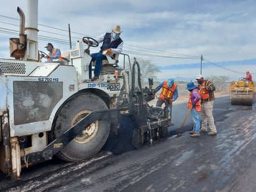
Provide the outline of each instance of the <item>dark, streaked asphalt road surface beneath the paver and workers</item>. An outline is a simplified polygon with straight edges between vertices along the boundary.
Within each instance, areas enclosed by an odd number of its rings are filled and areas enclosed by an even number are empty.
[[[19,181],[1,174],[0,191],[255,191],[255,104],[230,108],[229,97],[216,99],[216,136],[191,138],[189,118],[176,138],[188,109],[175,104],[168,139],[123,153],[115,142],[119,155],[103,151],[80,163],[54,159],[22,170]]]

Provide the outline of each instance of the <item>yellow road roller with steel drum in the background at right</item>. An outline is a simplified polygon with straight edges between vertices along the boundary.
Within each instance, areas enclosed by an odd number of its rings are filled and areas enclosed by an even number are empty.
[[[230,87],[230,97],[232,105],[252,106],[254,101],[254,81],[245,81],[244,78],[233,81]]]

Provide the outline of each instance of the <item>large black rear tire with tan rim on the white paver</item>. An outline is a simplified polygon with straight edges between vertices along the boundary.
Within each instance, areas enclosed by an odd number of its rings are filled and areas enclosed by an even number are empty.
[[[58,112],[53,126],[52,139],[60,137],[65,130],[75,125],[89,112],[99,109],[107,109],[107,105],[95,94],[80,94],[72,98]],[[60,150],[57,157],[68,162],[78,162],[92,157],[105,144],[110,127],[110,120],[95,121],[89,127],[85,127],[80,135]]]

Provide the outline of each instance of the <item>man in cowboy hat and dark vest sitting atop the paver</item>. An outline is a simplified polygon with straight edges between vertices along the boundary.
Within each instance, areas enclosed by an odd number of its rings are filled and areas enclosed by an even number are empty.
[[[102,60],[106,59],[106,56],[103,55],[103,50],[107,50],[107,53],[109,55],[113,55],[113,57],[114,54],[119,54],[122,52],[124,42],[120,38],[121,33],[122,30],[120,25],[116,25],[116,27],[112,28],[112,32],[106,32],[95,39],[98,43],[103,42],[103,44],[101,45],[100,52],[91,54],[91,62],[95,61],[94,77],[91,79],[91,81],[99,79],[99,73],[101,73]],[[88,43],[89,40],[83,39],[83,42]],[[89,75],[91,75],[91,63],[89,64]]]

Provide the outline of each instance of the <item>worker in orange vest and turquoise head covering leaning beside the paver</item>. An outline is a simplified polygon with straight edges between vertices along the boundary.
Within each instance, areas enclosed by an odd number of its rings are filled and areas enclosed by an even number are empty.
[[[168,113],[170,114],[170,122],[171,122],[171,111],[173,106],[173,101],[178,98],[178,85],[174,83],[172,78],[168,79],[168,81],[163,81],[160,83],[157,88],[155,88],[155,93],[162,88],[162,92],[157,100],[157,106],[161,107],[163,103],[165,103],[165,108],[169,109]]]

